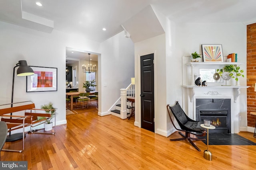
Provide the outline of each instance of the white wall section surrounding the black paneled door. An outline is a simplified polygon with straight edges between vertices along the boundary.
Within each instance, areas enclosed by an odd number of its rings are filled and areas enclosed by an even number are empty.
[[[165,34],[134,44],[135,53],[135,123],[141,127],[140,56],[154,55],[155,133],[166,136],[166,49]]]

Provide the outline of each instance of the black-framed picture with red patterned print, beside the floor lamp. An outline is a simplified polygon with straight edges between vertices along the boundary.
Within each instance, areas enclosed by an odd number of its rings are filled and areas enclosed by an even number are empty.
[[[57,68],[30,66],[34,75],[27,76],[26,92],[57,91]]]

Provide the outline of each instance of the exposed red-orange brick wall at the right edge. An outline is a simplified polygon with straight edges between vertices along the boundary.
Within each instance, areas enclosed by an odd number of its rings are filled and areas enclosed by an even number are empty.
[[[255,127],[256,116],[250,114],[256,111],[256,23],[247,25],[247,125]]]

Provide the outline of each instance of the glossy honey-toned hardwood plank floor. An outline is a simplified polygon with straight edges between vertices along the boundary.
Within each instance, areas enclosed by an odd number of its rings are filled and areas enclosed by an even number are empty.
[[[122,120],[100,117],[97,111],[67,116],[67,124],[56,127],[55,135],[28,134],[25,150],[1,151],[1,161],[26,160],[31,170],[69,169],[255,169],[256,146],[210,145],[212,161],[203,157],[206,145],[196,141],[198,152],[188,141],[169,138],[135,127],[134,117]],[[252,133],[239,135],[256,142]],[[3,149],[20,149],[22,141],[7,142]]]

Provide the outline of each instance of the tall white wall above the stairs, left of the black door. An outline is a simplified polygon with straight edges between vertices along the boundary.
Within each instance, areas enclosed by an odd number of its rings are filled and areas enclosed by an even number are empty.
[[[98,115],[107,115],[108,109],[120,98],[120,89],[126,88],[134,77],[134,43],[124,37],[124,31],[100,44],[98,56]]]

